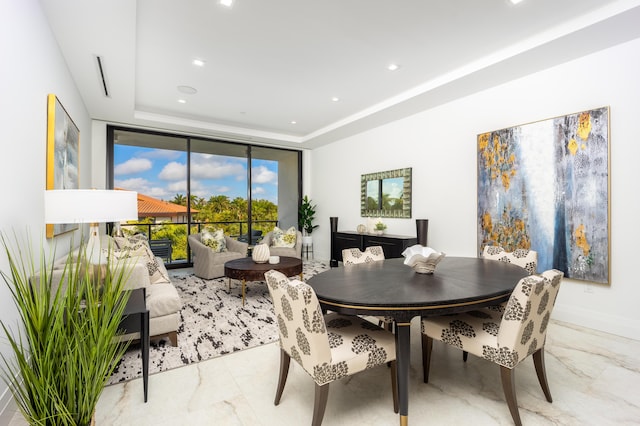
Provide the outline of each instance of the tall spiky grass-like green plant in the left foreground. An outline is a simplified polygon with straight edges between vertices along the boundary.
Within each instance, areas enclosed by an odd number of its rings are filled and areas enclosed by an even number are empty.
[[[89,425],[126,350],[114,337],[130,269],[85,267],[80,250],[67,256],[60,271],[47,263],[42,248],[36,261],[30,244],[22,250],[17,237],[16,248],[0,238],[9,261],[9,272],[1,274],[19,315],[17,331],[2,322],[13,353],[2,356],[2,377],[29,424]]]

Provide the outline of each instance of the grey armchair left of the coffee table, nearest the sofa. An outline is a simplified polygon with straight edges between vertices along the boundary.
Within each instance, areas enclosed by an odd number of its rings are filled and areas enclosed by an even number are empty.
[[[230,260],[247,257],[249,244],[234,240],[225,235],[227,251],[216,253],[202,243],[202,234],[189,235],[189,247],[193,255],[193,273],[200,278],[210,280],[224,276],[224,264]]]

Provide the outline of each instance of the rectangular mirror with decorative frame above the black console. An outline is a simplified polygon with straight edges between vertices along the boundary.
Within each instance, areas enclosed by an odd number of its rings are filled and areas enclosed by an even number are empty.
[[[410,218],[411,168],[362,175],[360,215]]]

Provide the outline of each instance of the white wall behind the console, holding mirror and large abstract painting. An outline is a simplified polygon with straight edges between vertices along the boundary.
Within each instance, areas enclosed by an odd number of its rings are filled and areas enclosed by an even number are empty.
[[[312,194],[322,230],[316,258],[329,258],[329,217],[355,230],[360,175],[413,168],[413,219],[429,219],[429,245],[476,255],[476,136],[531,121],[610,106],[610,285],[565,280],[556,319],[640,339],[636,225],[640,201],[640,39],[458,99],[312,153]],[[336,173],[340,170],[339,173]],[[392,234],[415,235],[415,220],[387,220]]]

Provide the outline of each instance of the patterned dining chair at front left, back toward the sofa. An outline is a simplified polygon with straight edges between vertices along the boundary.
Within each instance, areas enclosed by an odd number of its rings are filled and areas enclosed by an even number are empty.
[[[280,403],[293,358],[315,381],[312,425],[324,417],[329,384],[368,368],[391,363],[393,408],[398,412],[395,337],[358,316],[323,316],[311,286],[271,270],[265,273],[280,335],[280,374],[275,405]]]

